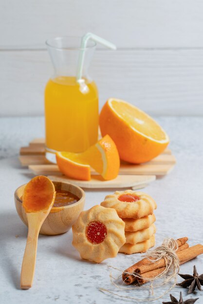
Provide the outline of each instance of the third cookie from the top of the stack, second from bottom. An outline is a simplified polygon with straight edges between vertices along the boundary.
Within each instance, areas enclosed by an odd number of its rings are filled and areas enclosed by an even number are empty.
[[[152,224],[149,228],[135,231],[135,232],[125,232],[126,243],[137,244],[148,240],[156,232],[156,226]]]

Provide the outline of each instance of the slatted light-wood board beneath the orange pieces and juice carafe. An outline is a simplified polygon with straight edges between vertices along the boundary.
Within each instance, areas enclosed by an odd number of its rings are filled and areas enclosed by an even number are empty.
[[[112,181],[104,181],[92,169],[91,181],[77,181],[62,175],[57,165],[49,162],[45,157],[44,138],[35,138],[29,146],[22,147],[19,155],[20,163],[35,175],[49,175],[52,179],[67,181],[84,188],[142,188],[156,179],[156,176],[168,174],[174,167],[176,160],[169,149],[155,157],[148,163],[134,165],[121,162],[119,175]]]

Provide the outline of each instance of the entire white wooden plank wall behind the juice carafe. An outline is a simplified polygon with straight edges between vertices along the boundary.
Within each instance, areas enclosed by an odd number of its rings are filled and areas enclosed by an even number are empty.
[[[0,0],[0,116],[43,114],[44,41],[93,32],[100,107],[122,98],[153,115],[203,115],[202,0]]]

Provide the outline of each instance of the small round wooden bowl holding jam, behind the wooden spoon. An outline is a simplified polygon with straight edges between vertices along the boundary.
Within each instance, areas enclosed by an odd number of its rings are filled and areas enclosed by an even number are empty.
[[[53,183],[55,185],[56,192],[60,189],[70,191],[71,193],[75,194],[80,200],[77,203],[73,203],[69,206],[52,207],[48,217],[41,226],[39,232],[41,235],[55,236],[69,231],[75,220],[77,220],[80,212],[83,210],[85,204],[85,192],[80,187],[63,182],[53,181]],[[21,200],[25,186],[26,185],[22,185],[16,189],[14,198],[18,216],[25,225],[28,225],[27,216],[24,208],[22,207]]]

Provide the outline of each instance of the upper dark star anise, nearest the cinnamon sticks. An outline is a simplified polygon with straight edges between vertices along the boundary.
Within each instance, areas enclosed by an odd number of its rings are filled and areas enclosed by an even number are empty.
[[[202,290],[201,285],[203,285],[203,274],[198,275],[196,267],[194,266],[193,275],[190,274],[180,274],[179,275],[185,279],[180,284],[176,284],[181,287],[189,287],[188,293],[192,293],[195,291],[195,288],[197,287],[199,290]]]

